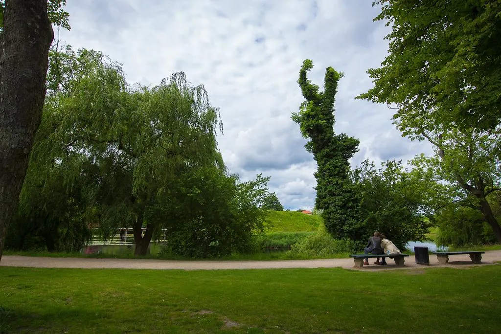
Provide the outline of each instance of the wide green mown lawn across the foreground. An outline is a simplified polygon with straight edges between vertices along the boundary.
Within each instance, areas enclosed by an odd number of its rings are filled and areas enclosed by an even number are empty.
[[[500,265],[377,272],[0,267],[0,332],[493,333]]]

